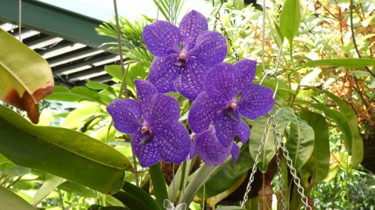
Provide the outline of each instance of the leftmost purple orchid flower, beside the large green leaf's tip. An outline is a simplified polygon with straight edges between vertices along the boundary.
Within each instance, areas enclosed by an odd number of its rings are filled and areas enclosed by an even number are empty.
[[[180,163],[191,150],[190,135],[178,121],[180,106],[173,97],[158,93],[147,80],[134,80],[138,101],[117,99],[107,106],[114,127],[131,134],[131,146],[140,166],[149,167],[160,159]]]

